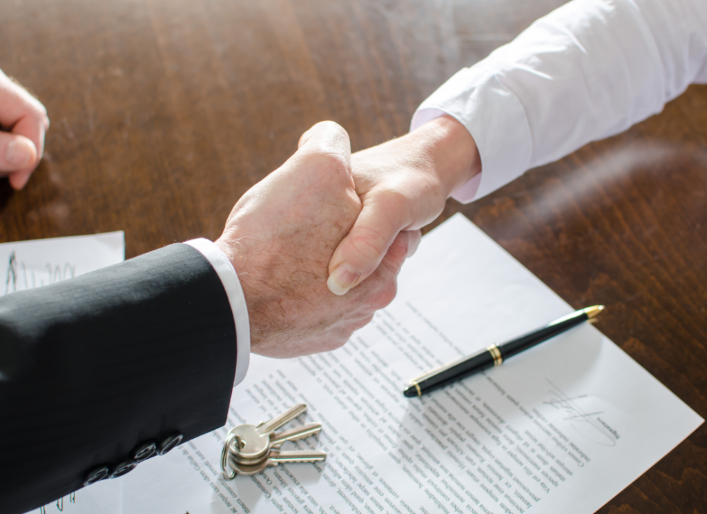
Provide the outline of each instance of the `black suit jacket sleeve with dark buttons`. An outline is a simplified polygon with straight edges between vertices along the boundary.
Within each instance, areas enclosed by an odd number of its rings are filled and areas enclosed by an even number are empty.
[[[0,512],[223,426],[236,357],[226,291],[185,244],[0,298]]]

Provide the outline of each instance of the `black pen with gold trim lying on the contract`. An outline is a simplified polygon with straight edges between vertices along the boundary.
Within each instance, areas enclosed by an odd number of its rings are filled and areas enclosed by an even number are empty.
[[[533,330],[531,333],[516,337],[514,340],[504,342],[503,345],[489,345],[481,352],[463,357],[458,361],[447,364],[434,371],[425,373],[410,381],[410,386],[403,391],[407,398],[414,398],[429,393],[435,389],[447,386],[452,382],[460,381],[462,378],[474,373],[479,373],[491,366],[501,366],[504,360],[513,357],[515,354],[524,352],[528,348],[539,345],[551,337],[555,337],[570,328],[579,325],[583,321],[594,318],[604,309],[603,305],[595,305],[580,309],[568,316],[563,316],[558,320],[545,325],[542,328]]]

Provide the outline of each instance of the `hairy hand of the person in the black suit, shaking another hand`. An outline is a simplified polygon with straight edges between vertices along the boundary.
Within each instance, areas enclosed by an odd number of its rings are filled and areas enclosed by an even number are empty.
[[[337,348],[395,297],[419,231],[400,234],[346,298],[327,288],[329,259],[361,207],[349,136],[331,121],[305,132],[297,152],[235,204],[216,244],[243,286],[253,352],[294,357]]]

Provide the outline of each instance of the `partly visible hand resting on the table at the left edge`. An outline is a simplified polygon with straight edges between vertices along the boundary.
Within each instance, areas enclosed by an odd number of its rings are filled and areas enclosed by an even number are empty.
[[[42,159],[47,109],[0,71],[0,177],[22,189]],[[6,132],[8,131],[8,132]]]

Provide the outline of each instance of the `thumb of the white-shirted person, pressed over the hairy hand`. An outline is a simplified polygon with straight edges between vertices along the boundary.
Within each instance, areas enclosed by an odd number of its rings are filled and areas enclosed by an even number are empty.
[[[354,227],[329,261],[329,290],[341,296],[373,273],[397,234],[408,224],[387,203],[363,205]],[[391,213],[394,213],[393,215]]]

